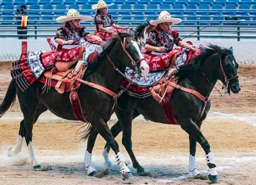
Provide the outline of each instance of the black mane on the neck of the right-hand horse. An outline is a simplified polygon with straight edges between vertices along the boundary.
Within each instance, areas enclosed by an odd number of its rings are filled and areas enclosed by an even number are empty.
[[[189,73],[198,72],[201,70],[202,64],[209,58],[210,56],[214,55],[215,53],[218,53],[221,58],[232,54],[227,48],[221,48],[217,45],[208,45],[208,48],[204,48],[201,50],[201,54],[196,56],[194,59],[192,59],[191,63],[189,65],[181,66],[181,68],[176,73],[176,76],[185,77]]]

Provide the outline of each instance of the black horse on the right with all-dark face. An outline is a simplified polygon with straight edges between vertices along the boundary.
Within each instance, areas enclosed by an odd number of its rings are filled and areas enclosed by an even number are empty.
[[[230,91],[238,93],[241,89],[238,83],[237,69],[238,63],[235,61],[232,48],[223,49],[215,45],[210,45],[209,48],[205,48],[202,51],[201,55],[193,59],[191,65],[179,69],[177,73],[179,77],[178,85],[197,90],[201,95],[209,97],[217,80],[221,80],[228,93]],[[207,102],[205,110],[201,115],[204,102],[190,93],[175,89],[169,103],[174,109],[174,116],[179,125],[189,135],[189,171],[192,172],[193,176],[200,174],[195,164],[195,150],[196,143],[198,142],[204,149],[207,157],[209,179],[214,183],[217,182],[218,175],[214,159],[210,152],[210,144],[200,130],[202,122],[210,110],[210,101]],[[121,131],[123,132],[122,144],[124,144],[125,149],[131,157],[134,168],[137,169],[138,173],[144,172],[144,169],[138,163],[132,151],[132,120],[139,115],[143,115],[152,122],[169,124],[162,112],[161,105],[152,96],[145,99],[138,99],[137,97],[129,96],[125,92],[118,99],[115,113],[118,117],[118,122],[111,128],[111,132],[114,137]],[[95,135],[91,134],[87,146],[87,150],[90,152],[93,147],[91,143],[94,143],[94,140]],[[106,145],[103,152],[105,165],[107,166],[112,165],[108,158],[109,149],[109,146]]]

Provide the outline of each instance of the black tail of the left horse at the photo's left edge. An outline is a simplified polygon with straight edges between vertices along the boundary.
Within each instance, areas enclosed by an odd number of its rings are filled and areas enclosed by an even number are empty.
[[[4,116],[16,99],[16,85],[14,79],[11,80],[3,102],[0,104],[0,117]]]

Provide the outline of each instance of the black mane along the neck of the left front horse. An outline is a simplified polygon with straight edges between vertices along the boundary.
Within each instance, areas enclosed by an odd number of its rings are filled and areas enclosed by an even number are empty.
[[[85,72],[84,76],[88,76],[89,74],[95,72],[95,70],[98,69],[98,66],[101,65],[102,60],[105,58],[105,55],[107,55],[111,51],[111,49],[114,47],[115,43],[118,42],[119,39],[130,36],[131,35],[129,35],[128,33],[119,33],[118,36],[112,38],[112,40],[108,42],[107,47],[101,53],[99,53],[97,58],[92,63],[88,63],[88,69]]]

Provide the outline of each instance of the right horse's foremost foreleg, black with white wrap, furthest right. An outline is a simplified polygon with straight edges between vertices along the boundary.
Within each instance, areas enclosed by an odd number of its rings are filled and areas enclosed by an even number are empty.
[[[208,143],[207,139],[205,139],[204,135],[202,134],[200,127],[198,127],[192,120],[189,122],[179,122],[181,123],[181,128],[185,130],[194,139],[196,142],[200,143],[202,149],[204,149],[205,157],[207,160],[208,169],[208,177],[212,181],[212,183],[218,182],[218,173],[216,170],[216,165],[210,151],[210,144]]]

